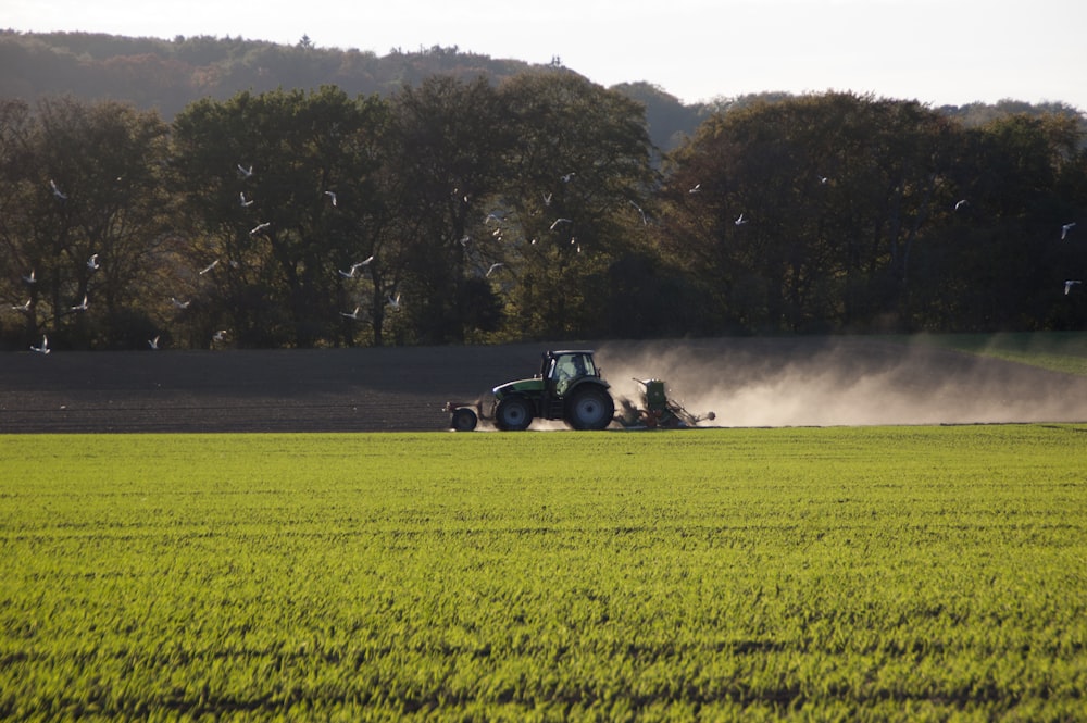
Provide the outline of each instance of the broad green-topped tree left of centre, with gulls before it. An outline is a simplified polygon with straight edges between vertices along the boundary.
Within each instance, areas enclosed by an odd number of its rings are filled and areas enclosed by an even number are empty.
[[[385,113],[376,98],[323,87],[204,100],[178,116],[178,190],[193,220],[185,281],[205,339],[226,324],[251,346],[353,341],[339,312],[355,291],[338,272],[375,250]]]

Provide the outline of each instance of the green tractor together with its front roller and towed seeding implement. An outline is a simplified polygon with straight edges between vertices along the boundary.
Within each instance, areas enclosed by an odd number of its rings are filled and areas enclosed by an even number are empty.
[[[495,387],[490,404],[449,401],[442,411],[450,414],[449,426],[458,432],[475,429],[479,420],[516,432],[537,419],[562,420],[574,429],[605,429],[613,424],[628,429],[675,429],[714,419],[713,412],[698,416],[669,399],[660,379],[635,381],[641,385],[640,406],[621,398],[616,413],[610,385],[591,351],[545,351],[539,374]]]

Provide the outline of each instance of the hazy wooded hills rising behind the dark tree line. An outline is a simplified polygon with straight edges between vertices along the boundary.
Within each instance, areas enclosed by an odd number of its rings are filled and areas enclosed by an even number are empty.
[[[0,30],[0,67],[4,68],[0,74],[0,98],[33,102],[71,94],[88,101],[121,100],[139,109],[155,109],[168,122],[197,99],[226,100],[242,90],[262,92],[335,85],[349,96],[388,95],[404,84],[417,85],[436,74],[461,79],[482,75],[500,83],[541,66],[462,52],[457,47],[390,49],[379,57],[358,49],[320,48],[305,37],[295,46],[285,46],[240,37],[177,36],[163,40],[92,33]],[[546,67],[562,67],[561,60],[553,59]],[[675,148],[684,136],[692,135],[699,123],[713,113],[790,97],[767,88],[755,95],[684,104],[651,79],[630,79],[613,89],[645,105],[650,140],[665,151]],[[937,110],[967,126],[1020,113],[1069,114],[1087,124],[1079,110],[1060,102],[1032,104],[1009,99],[996,104],[972,102]]]

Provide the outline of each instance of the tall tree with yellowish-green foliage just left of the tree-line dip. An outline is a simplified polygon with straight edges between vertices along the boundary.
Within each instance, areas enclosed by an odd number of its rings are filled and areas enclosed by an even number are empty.
[[[561,68],[518,75],[500,92],[516,124],[496,203],[516,282],[504,289],[508,328],[607,334],[609,269],[647,248],[642,210],[657,176],[644,107]]]

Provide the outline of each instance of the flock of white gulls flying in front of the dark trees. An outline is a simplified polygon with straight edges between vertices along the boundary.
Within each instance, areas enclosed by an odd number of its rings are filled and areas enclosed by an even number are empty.
[[[237,164],[237,167],[238,167],[238,173],[241,175],[242,178],[251,178],[253,176],[253,166],[252,165],[243,166],[243,165],[241,165],[239,163],[239,164]],[[570,183],[575,175],[576,175],[575,173],[571,172],[571,173],[563,174],[562,176],[560,176],[560,178],[561,178],[561,180],[563,183]],[[826,176],[822,176],[822,175],[819,176],[819,182],[822,185],[827,184],[828,180],[829,180],[829,178],[826,177]],[[67,200],[67,194],[63,192],[60,189],[60,187],[57,185],[57,183],[54,180],[52,180],[52,179],[49,180],[49,187],[52,190],[52,194],[53,194],[53,196],[55,198],[58,198],[61,201]],[[692,195],[694,194],[700,194],[700,192],[702,192],[702,185],[701,184],[695,184],[692,187],[690,187],[688,189],[687,192],[688,194],[692,194]],[[326,197],[328,197],[328,199],[332,202],[333,207],[337,207],[338,205],[339,200],[338,200],[338,197],[336,195],[336,191],[334,191],[334,190],[325,190],[324,195]],[[542,194],[542,197],[544,197],[544,204],[545,205],[551,205],[552,195],[548,194],[548,192],[545,192],[545,194]],[[241,204],[242,208],[250,208],[250,207],[253,205],[254,200],[252,198],[247,197],[245,191],[241,191],[239,194],[239,202],[240,202],[240,204]],[[641,215],[641,222],[642,222],[642,224],[648,224],[649,223],[648,217],[646,216],[646,212],[641,209],[641,207],[638,205],[637,203],[635,203],[633,200],[629,201],[629,203]],[[960,211],[963,207],[966,207],[966,205],[969,205],[969,201],[966,199],[961,199],[961,200],[959,200],[959,201],[955,202],[954,210],[955,211]],[[484,223],[485,224],[489,224],[491,222],[496,222],[496,223],[500,224],[501,221],[502,221],[502,217],[500,215],[498,215],[497,213],[489,213],[487,215],[487,217],[484,220]],[[745,217],[744,213],[740,213],[735,219],[735,221],[733,223],[736,226],[742,226],[742,225],[747,224],[748,222],[749,222],[749,219]],[[555,219],[551,223],[550,230],[554,232],[561,225],[563,225],[563,224],[572,224],[572,223],[573,223],[573,219],[558,217],[558,219]],[[1065,239],[1067,239],[1069,234],[1072,232],[1072,229],[1075,227],[1075,225],[1076,225],[1076,222],[1071,221],[1071,222],[1069,222],[1066,224],[1063,224],[1061,226],[1061,240],[1062,241],[1065,240]],[[264,230],[266,230],[267,228],[270,228],[271,226],[272,226],[272,224],[270,222],[266,222],[266,221],[258,223],[255,226],[253,226],[250,229],[249,234],[250,234],[250,236],[257,236],[257,235],[263,233]],[[497,230],[495,230],[493,235],[496,237],[498,237],[499,239],[501,239],[501,227],[499,227]],[[465,237],[463,237],[461,239],[461,244],[464,245],[464,246],[467,246],[467,244],[470,241],[471,241],[471,237],[468,237],[468,236],[465,236]],[[575,245],[577,247],[577,252],[580,253],[582,247],[579,245],[577,245],[577,239],[572,236],[570,242],[572,245]],[[536,244],[536,239],[535,238],[532,240],[532,244]],[[90,255],[89,259],[87,259],[87,270],[90,271],[91,273],[97,272],[97,271],[99,271],[102,267],[101,263],[99,261],[99,258],[100,258],[100,255],[98,253],[93,253],[93,254]],[[347,270],[338,269],[337,271],[338,271],[339,275],[341,277],[343,277],[343,278],[355,278],[357,275],[359,274],[359,272],[361,270],[364,270],[364,269],[368,267],[370,264],[373,261],[374,261],[374,257],[370,255],[366,259],[363,259],[362,261],[359,261],[358,263],[351,264]],[[204,275],[211,273],[212,271],[214,271],[216,266],[218,266],[218,259],[215,259],[210,264],[208,264],[207,266],[204,266],[203,269],[201,269],[198,272],[198,274],[200,276],[204,276]],[[502,262],[496,262],[496,263],[490,264],[490,266],[487,269],[486,276],[490,277],[491,274],[493,274],[498,270],[502,269],[503,266],[505,266],[505,264],[502,263]],[[26,283],[27,285],[36,284],[37,283],[37,276],[36,276],[35,271],[30,270],[29,274],[23,276],[23,282]],[[1064,282],[1064,295],[1067,296],[1069,294],[1072,292],[1073,288],[1075,288],[1076,286],[1082,285],[1083,283],[1084,283],[1083,279],[1078,279],[1078,278],[1065,279],[1065,282]],[[180,300],[180,299],[178,299],[176,297],[170,297],[170,301],[174,306],[174,308],[179,309],[179,310],[188,309],[189,304],[191,303],[191,301],[183,301],[183,300]],[[399,311],[400,308],[401,308],[401,297],[400,297],[400,294],[397,292],[395,296],[393,295],[389,295],[388,298],[387,298],[387,302],[388,302],[388,306],[393,311]],[[11,304],[11,309],[13,311],[18,311],[18,312],[23,312],[23,313],[29,313],[30,312],[30,304],[32,304],[32,299],[27,299],[25,303]],[[85,294],[84,297],[83,297],[83,301],[80,301],[77,304],[72,306],[70,308],[70,311],[71,312],[84,312],[84,311],[87,311],[88,308],[89,308],[89,300],[88,300],[87,295]],[[352,321],[360,321],[360,320],[363,319],[360,315],[360,312],[361,312],[361,307],[355,307],[354,310],[352,310],[350,312],[341,311],[340,312],[340,316],[343,316],[345,319],[350,319]],[[226,335],[227,335],[227,331],[226,329],[218,329],[218,331],[216,331],[212,335],[212,341],[213,342],[223,342],[223,341],[226,340]],[[160,338],[161,338],[160,336],[155,336],[152,339],[148,339],[147,340],[148,347],[150,347],[152,350],[158,350],[159,349],[159,339]],[[49,336],[46,335],[46,334],[43,334],[41,336],[41,345],[40,346],[34,346],[34,345],[32,345],[30,346],[30,351],[34,351],[34,352],[40,353],[40,354],[48,354],[48,353],[50,353],[52,350],[49,347]]]

